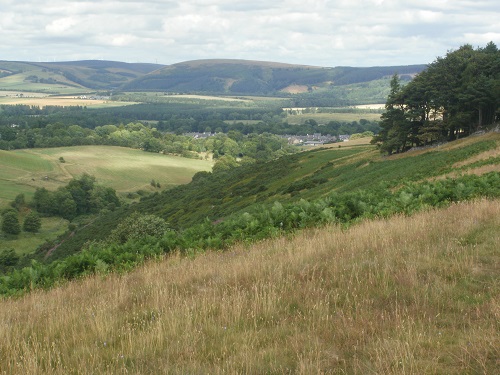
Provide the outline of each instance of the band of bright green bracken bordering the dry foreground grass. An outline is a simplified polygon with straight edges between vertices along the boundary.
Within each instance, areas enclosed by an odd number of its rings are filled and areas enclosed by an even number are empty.
[[[220,222],[206,220],[179,231],[168,230],[159,217],[136,213],[113,230],[106,240],[87,243],[83,252],[45,265],[33,261],[30,267],[3,276],[0,293],[17,294],[33,287],[51,287],[61,280],[103,269],[131,269],[147,258],[174,250],[189,253],[225,249],[240,241],[254,242],[296,229],[411,214],[478,197],[500,197],[499,173],[407,183],[394,191],[388,190],[387,185],[380,185],[370,190],[330,194],[312,201],[275,202],[270,207],[259,205]]]

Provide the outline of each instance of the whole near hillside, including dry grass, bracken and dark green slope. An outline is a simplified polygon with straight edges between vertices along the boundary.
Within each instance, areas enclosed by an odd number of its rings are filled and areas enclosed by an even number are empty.
[[[495,373],[499,158],[490,132],[198,173],[0,276],[0,372]]]

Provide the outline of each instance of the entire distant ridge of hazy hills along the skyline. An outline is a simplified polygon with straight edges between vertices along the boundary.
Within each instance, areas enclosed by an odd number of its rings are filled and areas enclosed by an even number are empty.
[[[92,90],[260,95],[287,92],[290,87],[304,92],[328,89],[394,73],[413,76],[425,68],[426,65],[331,68],[236,59],[193,60],[172,65],[106,60],[0,61],[0,89],[34,91],[40,84],[57,84]]]

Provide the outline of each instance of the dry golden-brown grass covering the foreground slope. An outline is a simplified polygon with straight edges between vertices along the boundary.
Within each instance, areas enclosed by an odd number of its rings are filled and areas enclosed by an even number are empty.
[[[500,201],[170,256],[0,303],[0,373],[495,373]]]

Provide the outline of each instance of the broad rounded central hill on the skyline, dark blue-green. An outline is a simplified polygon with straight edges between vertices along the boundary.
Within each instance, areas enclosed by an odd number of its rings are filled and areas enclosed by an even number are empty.
[[[369,82],[399,73],[413,76],[425,65],[317,67],[248,60],[195,60],[163,67],[122,86],[124,90],[271,94]],[[300,89],[299,91],[300,92]]]

